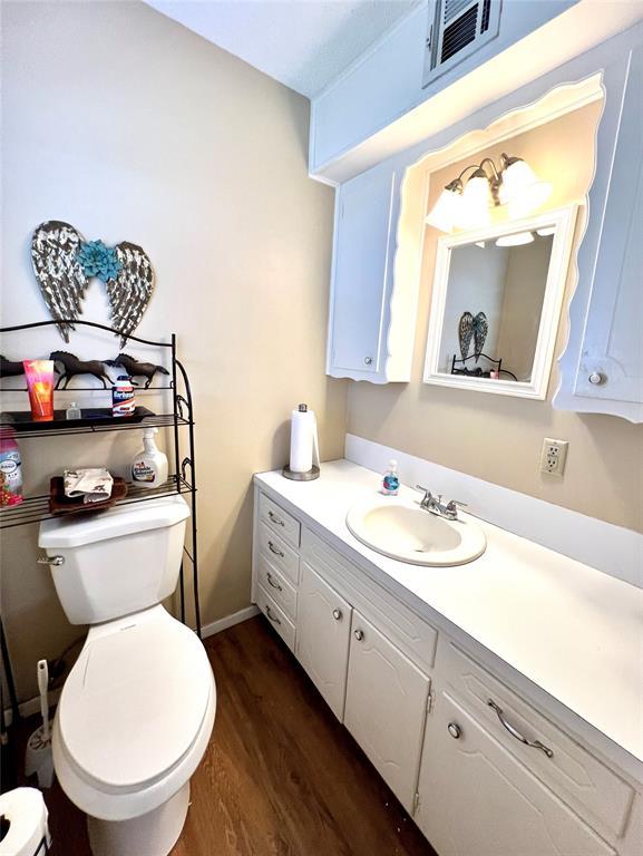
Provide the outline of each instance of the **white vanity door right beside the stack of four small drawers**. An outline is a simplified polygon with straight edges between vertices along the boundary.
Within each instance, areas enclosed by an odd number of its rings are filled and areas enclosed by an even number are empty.
[[[352,607],[305,563],[302,564],[298,600],[295,654],[341,720]]]

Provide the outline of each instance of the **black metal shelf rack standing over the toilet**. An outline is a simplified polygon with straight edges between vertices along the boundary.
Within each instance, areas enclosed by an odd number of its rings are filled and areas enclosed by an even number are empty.
[[[126,342],[137,342],[139,344],[149,346],[153,348],[162,348],[169,351],[171,358],[171,373],[169,383],[164,386],[150,386],[148,388],[140,387],[137,389],[136,395],[162,392],[163,390],[172,393],[172,412],[159,414],[153,416],[146,416],[142,421],[127,422],[123,425],[101,425],[99,420],[96,424],[82,427],[65,427],[65,428],[49,428],[42,430],[41,428],[30,429],[27,426],[21,427],[17,432],[17,438],[21,441],[23,439],[47,439],[51,437],[80,435],[80,434],[103,434],[108,431],[124,431],[124,430],[143,430],[144,428],[171,428],[173,431],[173,469],[174,471],[165,481],[157,488],[146,488],[142,486],[128,486],[127,496],[120,499],[116,505],[127,505],[129,503],[139,503],[147,499],[157,499],[163,496],[171,496],[173,494],[184,494],[189,503],[191,509],[191,549],[184,547],[184,557],[192,564],[192,577],[193,577],[193,594],[194,594],[194,615],[196,623],[196,633],[201,638],[201,606],[198,597],[198,549],[197,549],[197,509],[196,509],[196,467],[195,467],[195,445],[194,445],[194,409],[192,399],[192,389],[189,386],[189,379],[185,368],[177,359],[176,354],[176,334],[172,333],[169,341],[158,342],[149,339],[142,339],[136,335],[124,335],[119,330],[106,324],[99,324],[94,321],[81,321],[79,319],[61,319],[65,323],[76,325],[96,328],[104,330],[114,335],[121,337]],[[0,334],[32,330],[40,327],[51,327],[60,323],[59,321],[38,321],[31,324],[18,324],[14,327],[0,328]],[[181,392],[179,392],[181,388]],[[0,392],[19,392],[17,388],[0,387]],[[26,390],[25,390],[26,391]],[[72,387],[68,392],[82,392],[91,391],[99,392],[99,387]],[[7,425],[6,422],[2,424]],[[182,448],[185,448],[185,440],[182,444],[181,429],[185,428],[187,431],[187,448],[185,455],[182,455]],[[169,457],[169,456],[168,456]],[[52,517],[49,512],[49,497],[46,495],[40,496],[26,496],[19,505],[1,508],[0,509],[0,529],[11,528],[14,526],[21,526],[30,523],[38,523],[39,521],[48,519]],[[181,620],[185,623],[185,577],[184,577],[184,562],[181,565],[179,573],[179,595],[181,595]],[[2,653],[4,654],[4,646]],[[4,656],[3,656],[4,660]],[[10,663],[4,662],[7,672],[10,674]],[[10,682],[11,689],[12,682]],[[13,694],[13,693],[11,693]],[[17,711],[16,699],[11,699],[12,708]]]

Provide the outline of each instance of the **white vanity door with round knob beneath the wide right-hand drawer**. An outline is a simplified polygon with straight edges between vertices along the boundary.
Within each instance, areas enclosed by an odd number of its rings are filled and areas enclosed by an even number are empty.
[[[416,823],[440,856],[615,856],[447,693],[429,718],[418,790]]]

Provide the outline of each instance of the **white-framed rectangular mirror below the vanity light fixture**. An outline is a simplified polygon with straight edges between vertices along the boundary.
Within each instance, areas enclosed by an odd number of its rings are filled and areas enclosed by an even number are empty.
[[[546,397],[575,214],[438,239],[426,383]]]

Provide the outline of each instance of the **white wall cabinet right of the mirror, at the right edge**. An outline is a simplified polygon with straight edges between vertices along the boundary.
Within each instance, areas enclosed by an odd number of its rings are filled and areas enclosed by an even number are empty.
[[[624,87],[611,86],[606,94],[598,139],[603,182],[590,193],[592,222],[578,255],[571,312],[577,327],[562,359],[563,382],[554,403],[641,422],[643,46],[624,57],[623,65]]]

